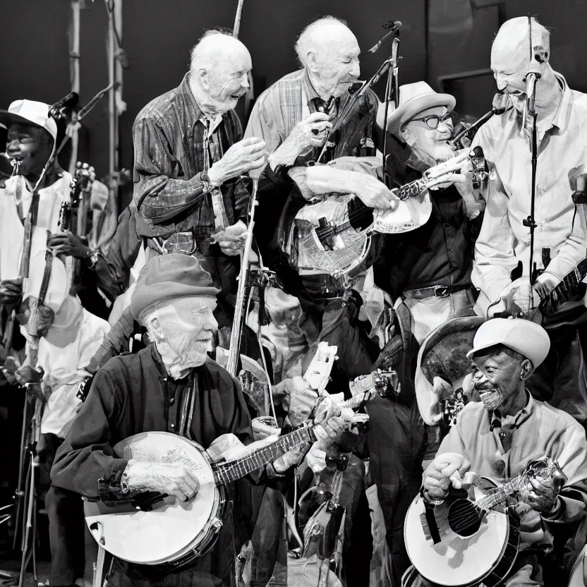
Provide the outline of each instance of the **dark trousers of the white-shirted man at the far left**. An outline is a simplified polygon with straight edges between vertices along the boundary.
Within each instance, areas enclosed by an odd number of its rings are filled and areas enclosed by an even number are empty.
[[[85,562],[83,501],[77,493],[55,488],[49,478],[55,453],[62,442],[54,434],[44,434],[38,449],[37,492],[44,495],[49,518],[51,587],[72,585],[75,579],[82,578]]]

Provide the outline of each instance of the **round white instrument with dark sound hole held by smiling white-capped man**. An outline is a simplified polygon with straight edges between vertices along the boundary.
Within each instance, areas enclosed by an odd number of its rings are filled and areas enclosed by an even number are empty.
[[[468,495],[454,492],[431,506],[418,495],[404,522],[406,550],[418,573],[434,586],[500,585],[516,560],[519,516],[504,507],[530,478],[551,478],[558,464],[545,458],[531,461],[524,473],[501,487],[479,477]]]

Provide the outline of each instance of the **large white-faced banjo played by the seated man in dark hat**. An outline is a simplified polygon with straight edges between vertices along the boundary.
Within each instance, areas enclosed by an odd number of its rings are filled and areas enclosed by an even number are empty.
[[[336,346],[320,343],[305,374],[306,381],[319,393],[327,384],[336,351]],[[380,378],[385,375],[381,373]],[[368,399],[366,394],[361,396]],[[342,406],[358,406],[358,399]],[[188,502],[159,492],[131,493],[125,500],[108,503],[86,501],[84,514],[90,533],[104,550],[128,562],[165,570],[190,564],[217,540],[229,508],[226,485],[291,449],[315,442],[316,427],[307,423],[266,447],[230,460],[214,460],[200,444],[170,432],[140,432],[128,437],[114,446],[115,456],[186,465],[198,473],[200,489]]]

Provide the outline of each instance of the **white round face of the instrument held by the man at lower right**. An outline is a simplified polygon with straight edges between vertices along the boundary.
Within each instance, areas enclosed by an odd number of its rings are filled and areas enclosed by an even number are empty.
[[[491,482],[490,482],[491,483]],[[494,484],[492,484],[495,487]],[[475,499],[483,497],[479,488],[473,488]],[[462,507],[464,500],[453,504]],[[449,500],[435,507],[435,518],[440,530],[440,543],[426,538],[420,515],[424,515],[424,501],[420,495],[413,500],[404,522],[404,538],[409,558],[418,573],[435,585],[464,587],[477,584],[491,573],[506,552],[509,542],[509,518],[500,509],[492,509],[481,524],[463,527],[454,532],[454,508]],[[512,561],[513,562],[513,561]],[[492,583],[495,584],[495,583]]]

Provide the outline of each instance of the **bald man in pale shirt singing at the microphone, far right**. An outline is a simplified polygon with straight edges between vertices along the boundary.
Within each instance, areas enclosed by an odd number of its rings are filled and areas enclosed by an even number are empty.
[[[587,96],[571,90],[550,66],[550,35],[535,19],[532,27],[532,61],[529,60],[529,20],[508,20],[495,37],[491,68],[497,89],[511,105],[502,116],[485,123],[473,140],[483,147],[490,169],[487,208],[475,247],[473,284],[480,289],[476,310],[490,315],[505,309],[511,299],[522,311],[537,305],[583,258],[587,227],[583,205],[571,194],[576,178],[587,171]],[[536,176],[533,261],[538,270],[530,289],[530,234],[524,221],[531,210],[531,128],[521,128],[526,102],[524,76],[529,68],[540,72],[536,84],[538,114],[538,173]],[[522,277],[511,281],[510,272],[521,261]],[[552,346],[549,356],[528,388],[536,399],[548,401],[587,421],[584,360],[577,327],[587,320],[582,299],[564,306],[547,326]]]

